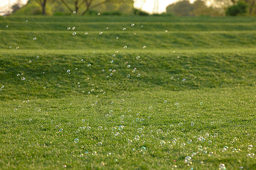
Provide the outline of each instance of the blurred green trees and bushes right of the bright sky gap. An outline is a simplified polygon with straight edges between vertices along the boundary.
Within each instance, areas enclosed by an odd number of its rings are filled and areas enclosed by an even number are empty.
[[[176,16],[255,16],[256,0],[181,0],[166,8]]]

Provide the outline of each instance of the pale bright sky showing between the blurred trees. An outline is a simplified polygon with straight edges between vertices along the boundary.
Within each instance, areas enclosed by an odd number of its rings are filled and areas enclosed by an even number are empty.
[[[166,12],[166,7],[171,3],[179,0],[134,0],[134,7],[146,11],[149,13],[162,13]],[[195,0],[190,0],[191,2]],[[17,0],[0,0],[0,12],[8,9],[8,5],[12,6]],[[22,3],[26,3],[27,0],[21,0]],[[2,13],[0,13],[1,15]]]

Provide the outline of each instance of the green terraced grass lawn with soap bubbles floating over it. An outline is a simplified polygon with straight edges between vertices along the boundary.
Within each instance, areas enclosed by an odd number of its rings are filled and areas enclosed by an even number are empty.
[[[0,169],[256,169],[255,26],[0,18]]]

